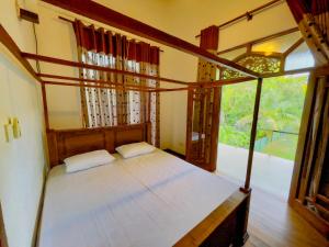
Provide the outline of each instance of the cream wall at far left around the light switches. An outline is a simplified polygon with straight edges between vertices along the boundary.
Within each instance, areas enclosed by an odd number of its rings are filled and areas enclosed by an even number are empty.
[[[16,18],[14,1],[0,1],[0,23],[24,50],[35,52],[31,23]],[[18,116],[22,137],[5,143],[3,124]],[[45,165],[39,86],[0,46],[0,201],[10,247],[33,243]]]

